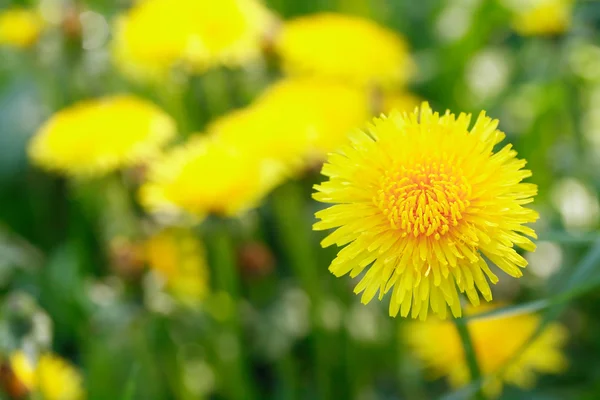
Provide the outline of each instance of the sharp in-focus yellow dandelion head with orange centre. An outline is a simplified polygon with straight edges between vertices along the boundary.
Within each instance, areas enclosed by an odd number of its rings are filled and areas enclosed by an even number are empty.
[[[314,198],[333,206],[317,212],[316,230],[337,228],[323,246],[342,249],[330,266],[336,276],[367,272],[355,288],[362,302],[392,290],[390,315],[421,319],[429,308],[444,318],[446,305],[461,315],[460,292],[490,301],[498,278],[484,256],[513,277],[532,251],[526,234],[538,214],[523,205],[537,192],[511,145],[494,153],[504,134],[481,113],[434,113],[427,103],[413,113],[375,119],[368,132],[329,155]]]

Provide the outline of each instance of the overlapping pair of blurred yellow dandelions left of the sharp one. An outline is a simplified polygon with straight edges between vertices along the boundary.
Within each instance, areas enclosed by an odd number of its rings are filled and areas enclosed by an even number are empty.
[[[324,157],[368,115],[363,90],[318,79],[280,81],[156,162],[141,201],[158,212],[239,214],[306,161]]]

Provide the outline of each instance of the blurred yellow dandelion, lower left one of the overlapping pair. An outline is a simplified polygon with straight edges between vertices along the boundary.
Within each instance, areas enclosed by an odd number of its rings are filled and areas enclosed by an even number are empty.
[[[157,213],[234,216],[256,206],[280,173],[252,149],[199,136],[151,166],[140,201]]]

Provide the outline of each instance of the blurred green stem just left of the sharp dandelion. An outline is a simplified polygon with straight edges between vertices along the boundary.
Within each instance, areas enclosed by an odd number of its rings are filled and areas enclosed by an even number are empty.
[[[295,276],[310,297],[314,329],[314,362],[319,398],[332,398],[330,381],[329,345],[327,333],[320,326],[319,311],[323,288],[319,279],[319,265],[312,243],[311,215],[307,201],[296,182],[289,182],[273,193],[273,211],[278,236]]]

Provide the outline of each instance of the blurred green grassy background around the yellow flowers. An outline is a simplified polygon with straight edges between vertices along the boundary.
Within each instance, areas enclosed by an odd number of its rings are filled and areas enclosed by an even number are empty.
[[[350,279],[327,271],[335,249],[321,249],[323,234],[311,231],[318,168],[275,189],[244,218],[194,228],[211,269],[202,304],[165,292],[136,259],[132,232],[147,222],[127,191],[131,172],[118,188],[103,180],[73,184],[32,166],[26,144],[57,110],[124,91],[173,115],[183,136],[202,131],[276,81],[277,60],[258,72],[210,70],[173,99],[160,84],[131,82],[111,65],[112,23],[128,1],[40,3],[0,0],[0,10],[66,10],[34,48],[0,48],[4,364],[16,349],[51,349],[81,372],[88,399],[471,396],[452,394],[423,371],[399,333],[407,321],[388,317],[386,302],[360,304]],[[501,279],[494,296],[533,304],[570,336],[563,374],[542,376],[532,390],[509,386],[502,398],[600,397],[600,2],[574,2],[565,32],[530,36],[514,31],[510,2],[501,0],[266,3],[283,20],[335,11],[400,33],[416,65],[407,91],[438,110],[486,110],[501,121],[534,172],[543,218],[525,276]],[[215,102],[211,90],[227,92],[227,101]],[[233,236],[234,252],[222,235]],[[219,283],[214,266],[223,263],[239,271],[232,285]],[[0,398],[26,398],[10,389],[6,368]]]

